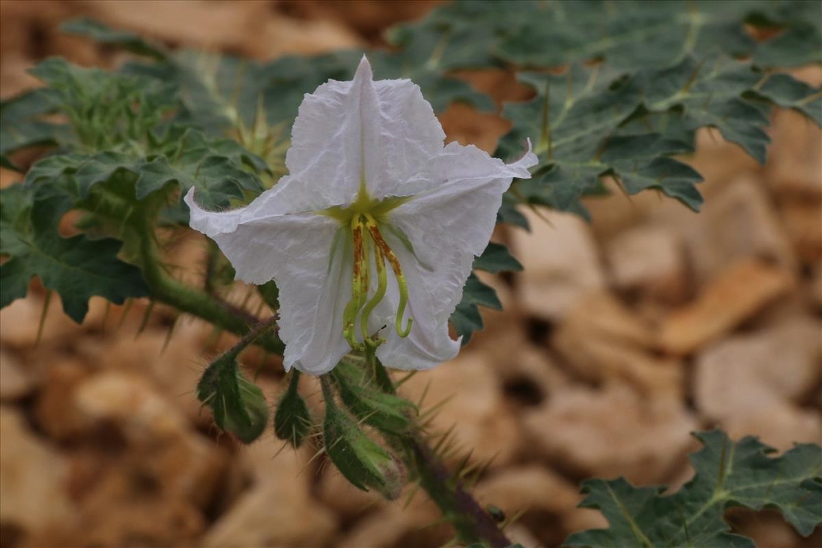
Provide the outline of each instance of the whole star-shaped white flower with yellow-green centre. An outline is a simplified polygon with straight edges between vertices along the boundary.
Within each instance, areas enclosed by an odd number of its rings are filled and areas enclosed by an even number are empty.
[[[369,345],[390,367],[455,357],[448,320],[491,237],[529,150],[503,163],[473,145],[443,145],[431,104],[409,80],[353,81],[306,94],[286,154],[289,175],[247,207],[202,210],[191,226],[217,242],[247,283],[274,279],[284,366],[320,375]]]

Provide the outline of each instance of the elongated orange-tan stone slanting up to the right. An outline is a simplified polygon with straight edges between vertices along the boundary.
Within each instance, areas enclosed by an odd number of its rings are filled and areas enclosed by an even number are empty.
[[[673,311],[660,328],[666,352],[683,355],[703,347],[794,288],[793,275],[761,260],[729,266],[687,306]]]

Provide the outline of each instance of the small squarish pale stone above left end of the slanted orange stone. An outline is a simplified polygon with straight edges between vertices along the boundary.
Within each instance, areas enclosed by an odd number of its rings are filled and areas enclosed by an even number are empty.
[[[684,251],[681,238],[670,229],[646,225],[608,242],[607,260],[617,288],[676,303],[689,292]]]

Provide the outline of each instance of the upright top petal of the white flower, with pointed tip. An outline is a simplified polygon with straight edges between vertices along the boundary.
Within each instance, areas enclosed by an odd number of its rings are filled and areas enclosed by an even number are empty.
[[[285,164],[327,205],[347,205],[361,183],[372,197],[405,196],[403,184],[441,153],[445,133],[412,81],[374,81],[363,56],[353,81],[306,94]]]

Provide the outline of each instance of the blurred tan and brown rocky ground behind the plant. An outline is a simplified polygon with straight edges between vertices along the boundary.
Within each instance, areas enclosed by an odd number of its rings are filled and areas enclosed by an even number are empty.
[[[169,44],[273,58],[378,44],[393,21],[428,3],[12,2],[0,18],[0,94],[33,85],[25,68],[49,54],[115,62],[58,35],[81,14]],[[179,25],[175,21],[196,21]],[[817,85],[819,68],[800,71]],[[504,74],[464,75],[497,98],[522,90]],[[309,91],[309,90],[307,90]],[[487,150],[506,122],[452,107],[450,138]],[[722,426],[778,449],[822,436],[822,133],[775,113],[760,166],[709,131],[689,159],[703,173],[701,214],[653,193],[589,200],[592,224],[529,212],[531,233],[500,231],[522,274],[488,277],[505,311],[453,362],[402,389],[442,403],[473,459],[494,458],[476,487],[483,503],[523,512],[510,536],[559,546],[603,519],[576,509],[584,477],[638,484],[689,477],[689,432]],[[2,172],[2,184],[16,180]],[[616,187],[615,187],[616,188]],[[182,239],[170,259],[199,275],[205,242]],[[235,297],[242,299],[243,288]],[[273,434],[239,447],[211,426],[193,388],[209,356],[232,341],[148,303],[92,301],[77,326],[44,292],[0,312],[0,546],[440,546],[447,528],[418,494],[408,508],[349,486],[312,450]],[[169,337],[169,329],[173,331]],[[275,401],[281,368],[245,365]],[[428,387],[428,388],[427,388]],[[303,388],[319,403],[310,383]],[[772,513],[734,513],[762,548],[800,541]]]

